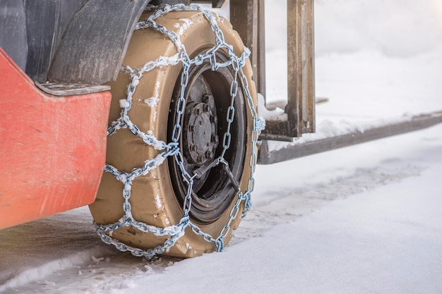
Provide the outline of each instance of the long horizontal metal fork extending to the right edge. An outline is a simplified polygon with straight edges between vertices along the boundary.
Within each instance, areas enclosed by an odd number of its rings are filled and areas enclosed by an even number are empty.
[[[422,130],[438,123],[442,123],[442,111],[435,111],[430,114],[420,114],[398,123],[382,125],[377,128],[369,128],[363,131],[356,130],[337,137],[328,137],[303,143],[295,141],[287,143],[285,148],[277,150],[269,150],[268,141],[263,140],[261,141],[262,144],[258,151],[258,164],[274,164],[289,159],[306,157],[308,155],[328,150],[378,140],[393,135],[400,135],[414,130]]]

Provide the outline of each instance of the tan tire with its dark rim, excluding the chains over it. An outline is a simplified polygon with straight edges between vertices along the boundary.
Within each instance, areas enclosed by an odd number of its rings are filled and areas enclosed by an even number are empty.
[[[145,16],[144,16],[145,17]],[[176,11],[167,13],[157,20],[168,30],[179,35],[187,54],[196,56],[215,44],[215,35],[203,13],[196,11]],[[231,44],[234,53],[240,56],[244,51],[241,38],[232,30],[232,25],[223,18],[217,18],[225,42]],[[141,68],[147,61],[160,56],[174,56],[177,48],[172,42],[153,28],[136,30],[133,33],[124,65]],[[227,52],[217,54],[222,62],[228,58]],[[141,78],[133,94],[129,117],[144,133],[154,135],[158,140],[172,142],[172,133],[177,118],[177,97],[181,80],[181,63],[176,66],[162,66],[148,71]],[[243,68],[253,104],[256,105],[256,90],[251,80],[249,61]],[[208,166],[222,152],[222,138],[227,128],[227,109],[230,106],[230,84],[234,72],[228,68],[212,71],[210,63],[192,66],[189,70],[189,85],[186,90],[186,111],[181,119],[179,147],[184,157],[186,171]],[[239,80],[239,93],[234,102],[235,116],[232,123],[231,147],[225,154],[234,178],[241,191],[248,189],[251,176],[249,164],[252,152],[251,135],[253,118],[246,102],[246,94]],[[109,123],[116,121],[121,112],[120,99],[126,97],[126,89],[131,80],[126,73],[120,73],[112,88],[112,106]],[[213,98],[211,97],[213,96]],[[201,114],[206,111],[206,114]],[[220,142],[218,142],[218,140]],[[127,128],[109,136],[107,143],[107,164],[119,171],[131,172],[143,166],[145,160],[157,157],[160,152],[146,145],[140,137],[133,135]],[[98,224],[115,223],[124,215],[124,185],[110,173],[104,173],[96,201],[90,211]],[[238,188],[238,187],[236,187]],[[229,214],[237,203],[236,188],[222,169],[222,164],[206,173],[193,185],[190,219],[202,231],[220,235]],[[179,223],[183,216],[183,203],[186,197],[186,183],[174,157],[169,157],[147,175],[136,178],[131,187],[131,214],[133,219],[152,226],[165,228]],[[242,211],[241,204],[240,210]],[[232,221],[230,227],[237,228],[241,213]],[[224,238],[227,243],[232,230]],[[143,233],[127,226],[112,233],[112,238],[131,247],[153,248],[162,245],[167,236],[157,237],[153,233]],[[174,257],[193,257],[215,250],[213,242],[207,242],[201,235],[187,227],[184,235],[165,255]]]

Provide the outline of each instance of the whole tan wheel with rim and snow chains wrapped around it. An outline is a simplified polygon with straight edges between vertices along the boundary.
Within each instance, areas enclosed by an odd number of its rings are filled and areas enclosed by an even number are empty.
[[[215,66],[215,60],[230,61],[228,49],[212,51],[208,58],[216,39],[203,13],[174,11],[155,21],[179,36],[192,60],[201,61],[176,64],[180,52],[168,37],[152,27],[134,32],[124,59],[127,71],[160,56],[170,58],[159,62],[175,65],[158,66],[135,79],[120,73],[112,83],[109,124],[117,131],[108,138],[108,172],[90,210],[103,225],[102,238],[119,249],[143,255],[148,248],[157,248],[155,253],[166,248],[166,255],[193,257],[222,249],[232,237],[230,228],[239,224],[241,197],[253,183],[256,90],[248,61],[243,76],[232,66]],[[241,56],[244,45],[237,32],[223,18],[217,24],[225,42]],[[124,125],[126,114],[130,123]],[[143,171],[131,178],[140,167]],[[124,226],[128,219],[131,225]],[[117,226],[105,226],[109,223]],[[171,233],[184,227],[184,235]]]

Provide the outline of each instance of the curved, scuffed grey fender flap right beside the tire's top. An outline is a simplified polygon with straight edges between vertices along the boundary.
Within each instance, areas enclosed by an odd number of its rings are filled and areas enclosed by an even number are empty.
[[[115,80],[133,27],[150,1],[87,1],[64,32],[48,80],[87,84]]]

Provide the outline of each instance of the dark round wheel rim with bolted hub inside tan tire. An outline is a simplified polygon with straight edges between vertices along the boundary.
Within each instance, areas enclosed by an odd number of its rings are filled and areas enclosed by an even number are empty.
[[[217,60],[227,61],[227,56],[222,52],[217,52],[216,55]],[[190,210],[191,219],[198,223],[212,223],[225,212],[234,199],[237,182],[244,167],[246,110],[241,91],[238,91],[234,99],[234,121],[230,126],[232,140],[223,157],[232,174],[229,175],[226,171],[225,164],[214,166],[225,149],[223,139],[228,127],[227,111],[231,104],[230,88],[233,80],[234,73],[229,68],[213,71],[209,62],[189,68],[189,85],[184,92],[186,107],[181,117],[179,147],[187,173],[191,176],[198,173],[198,176],[193,178]],[[180,81],[181,79],[177,80],[174,87],[168,119],[169,134],[173,134],[177,121]],[[168,163],[174,193],[180,204],[183,204],[188,185],[184,183],[177,161],[169,158]]]

